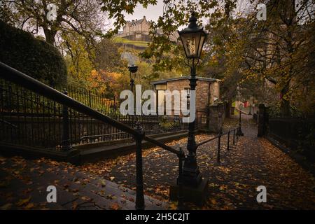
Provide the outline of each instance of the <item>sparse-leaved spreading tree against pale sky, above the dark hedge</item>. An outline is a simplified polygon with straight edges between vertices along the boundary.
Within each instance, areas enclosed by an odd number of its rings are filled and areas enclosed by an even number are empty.
[[[99,3],[100,0],[3,0],[1,20],[33,34],[43,31],[45,40],[52,45],[58,32],[66,35],[69,31],[76,31],[92,42],[106,25]],[[48,20],[51,4],[57,6],[56,15]]]

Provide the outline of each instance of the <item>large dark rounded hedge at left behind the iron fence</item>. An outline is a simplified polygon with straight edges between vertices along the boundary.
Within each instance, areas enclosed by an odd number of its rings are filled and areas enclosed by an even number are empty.
[[[54,46],[2,21],[0,49],[0,62],[51,86],[65,83],[66,64]]]

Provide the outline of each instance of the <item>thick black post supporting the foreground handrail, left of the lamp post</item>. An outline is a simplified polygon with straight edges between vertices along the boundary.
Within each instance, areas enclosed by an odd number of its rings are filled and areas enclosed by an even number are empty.
[[[136,195],[136,209],[137,210],[144,210],[144,176],[142,171],[142,148],[141,142],[144,138],[144,132],[142,131],[142,127],[140,123],[136,123],[136,130],[139,133],[137,136],[134,136],[136,140],[136,175],[137,175],[137,195]]]

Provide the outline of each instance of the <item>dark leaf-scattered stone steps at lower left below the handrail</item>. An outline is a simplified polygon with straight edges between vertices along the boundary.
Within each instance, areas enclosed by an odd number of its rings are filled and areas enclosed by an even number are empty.
[[[77,167],[55,162],[9,158],[0,165],[0,207],[9,209],[135,209],[136,193]],[[57,202],[48,203],[48,186],[57,189]],[[24,204],[21,203],[25,201]],[[27,207],[27,205],[31,206]],[[146,209],[167,209],[168,204],[145,196]],[[33,205],[33,206],[32,206]]]

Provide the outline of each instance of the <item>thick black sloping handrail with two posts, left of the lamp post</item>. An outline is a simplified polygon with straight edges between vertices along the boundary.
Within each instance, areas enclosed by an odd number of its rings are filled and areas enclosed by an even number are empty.
[[[101,120],[104,123],[109,123],[113,127],[118,128],[119,130],[122,130],[123,132],[127,132],[129,134],[132,134],[136,141],[137,151],[136,151],[136,163],[137,163],[137,195],[136,195],[136,209],[144,209],[144,181],[143,181],[143,174],[142,174],[142,147],[141,143],[142,140],[145,139],[146,141],[149,141],[157,146],[160,146],[161,148],[166,149],[167,151],[170,151],[172,153],[175,153],[179,157],[179,209],[183,208],[183,192],[182,192],[182,162],[185,159],[185,153],[180,150],[177,151],[176,149],[167,146],[165,144],[162,144],[160,141],[157,141],[155,139],[152,139],[150,137],[146,137],[144,132],[142,132],[142,128],[139,123],[137,123],[137,127],[135,129],[132,129],[131,127],[120,123],[118,120],[115,120],[113,118],[110,118],[109,116],[104,115],[103,113],[100,113],[98,111],[95,111],[94,109],[90,108],[89,106],[85,106],[85,104],[82,104],[75,99],[72,99],[71,97],[68,97],[62,92],[59,92],[52,87],[49,87],[48,85],[45,85],[38,80],[31,78],[30,76],[27,76],[25,73],[22,73],[16,69],[13,69],[12,67],[3,64],[0,62],[0,76],[4,78],[5,80],[9,80],[12,83],[15,83],[17,85],[21,85],[22,87],[25,87],[28,90],[31,90],[33,92],[36,92],[38,94],[43,95],[44,97],[47,97],[48,99],[52,99],[55,102],[58,102],[59,104],[62,104],[64,108],[62,109],[64,113],[64,117],[67,118],[68,116],[68,107],[71,109],[74,109],[80,113],[83,113],[87,116],[90,116],[96,120]],[[68,119],[66,119],[68,120]],[[69,133],[68,133],[69,135]],[[65,139],[69,139],[66,137]],[[63,144],[69,144],[69,143],[63,143]]]

